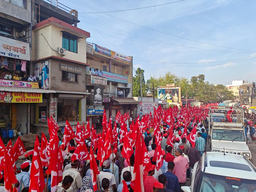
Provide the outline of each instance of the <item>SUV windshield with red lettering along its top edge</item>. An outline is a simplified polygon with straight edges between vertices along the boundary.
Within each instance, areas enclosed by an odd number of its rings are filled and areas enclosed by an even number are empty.
[[[247,192],[256,190],[256,180],[203,173],[200,192]],[[212,190],[213,189],[213,190]]]

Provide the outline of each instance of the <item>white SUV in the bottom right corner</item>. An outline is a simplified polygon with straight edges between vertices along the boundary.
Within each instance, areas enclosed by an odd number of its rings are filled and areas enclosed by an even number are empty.
[[[184,192],[256,192],[256,167],[241,155],[207,152],[193,169]]]

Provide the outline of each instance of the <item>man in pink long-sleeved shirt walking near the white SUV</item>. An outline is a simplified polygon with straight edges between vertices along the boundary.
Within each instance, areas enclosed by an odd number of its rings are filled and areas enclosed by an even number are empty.
[[[188,160],[187,158],[182,156],[182,153],[183,151],[181,148],[176,149],[175,155],[177,156],[177,158],[173,160],[173,163],[175,164],[173,174],[178,177],[180,187],[186,185],[186,172],[189,168]]]

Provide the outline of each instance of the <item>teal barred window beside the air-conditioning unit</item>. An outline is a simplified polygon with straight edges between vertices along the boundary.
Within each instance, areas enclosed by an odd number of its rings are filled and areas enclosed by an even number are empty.
[[[62,48],[77,53],[77,37],[62,33]]]

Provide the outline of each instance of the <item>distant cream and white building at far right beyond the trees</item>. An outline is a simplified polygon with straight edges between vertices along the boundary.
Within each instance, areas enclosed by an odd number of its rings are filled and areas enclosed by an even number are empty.
[[[240,103],[251,104],[252,99],[256,98],[255,82],[249,83],[245,80],[236,80],[232,81],[231,85],[226,85],[226,87],[233,92],[236,100]]]

